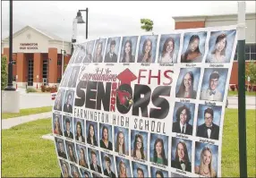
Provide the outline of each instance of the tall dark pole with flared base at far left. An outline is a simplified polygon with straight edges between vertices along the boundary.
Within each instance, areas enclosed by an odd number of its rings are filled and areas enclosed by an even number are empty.
[[[10,37],[9,37],[9,64],[8,64],[8,85],[5,91],[15,91],[13,87],[13,0],[10,0]]]

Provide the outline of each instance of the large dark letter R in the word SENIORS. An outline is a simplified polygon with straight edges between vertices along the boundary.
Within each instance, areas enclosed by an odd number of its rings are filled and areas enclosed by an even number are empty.
[[[144,97],[141,98],[141,94]],[[141,107],[141,115],[143,117],[148,117],[148,105],[151,96],[151,89],[147,85],[135,84],[134,86],[134,96],[133,96],[133,106],[132,115],[139,116],[139,109]]]

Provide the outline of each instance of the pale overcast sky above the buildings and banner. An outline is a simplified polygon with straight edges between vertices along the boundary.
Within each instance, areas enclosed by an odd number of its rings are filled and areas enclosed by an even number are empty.
[[[246,2],[246,12],[255,13],[255,2]],[[138,35],[141,18],[154,21],[156,34],[175,29],[172,16],[237,13],[236,1],[13,1],[13,32],[26,25],[47,30],[71,41],[73,18],[89,8],[89,38]],[[86,12],[81,13],[84,21]],[[78,24],[78,40],[85,39],[85,24]],[[2,1],[2,39],[9,36],[9,1]]]

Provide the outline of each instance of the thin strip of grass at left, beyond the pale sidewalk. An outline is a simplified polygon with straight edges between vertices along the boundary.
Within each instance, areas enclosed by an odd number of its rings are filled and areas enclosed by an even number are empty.
[[[2,119],[8,119],[13,117],[20,117],[23,115],[29,114],[39,114],[51,111],[53,106],[44,106],[44,107],[36,107],[36,108],[28,108],[28,109],[21,109],[20,113],[13,114],[13,113],[2,113]]]

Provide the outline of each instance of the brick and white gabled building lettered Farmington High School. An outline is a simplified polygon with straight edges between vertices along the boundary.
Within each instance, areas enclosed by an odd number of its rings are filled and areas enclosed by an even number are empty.
[[[13,33],[13,81],[18,87],[58,86],[63,50],[65,65],[71,58],[71,42],[31,26]],[[2,40],[3,55],[9,62],[9,37]]]

